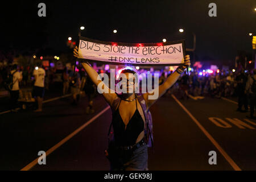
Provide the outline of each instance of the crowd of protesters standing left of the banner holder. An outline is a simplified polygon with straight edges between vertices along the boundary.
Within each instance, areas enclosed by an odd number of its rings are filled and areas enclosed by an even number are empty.
[[[57,79],[60,77],[60,79]],[[9,81],[11,79],[11,81]],[[57,82],[55,82],[57,80]],[[11,86],[10,86],[11,85]],[[53,89],[61,88],[59,95],[72,94],[72,105],[77,105],[82,91],[88,96],[89,104],[86,107],[86,113],[92,114],[93,97],[96,95],[96,87],[86,76],[83,69],[64,67],[64,69],[56,70],[56,68],[42,67],[36,64],[33,67],[20,67],[16,64],[1,65],[0,67],[0,88],[10,93],[10,110],[18,111],[19,98],[23,97],[22,90],[30,90],[31,97],[35,98],[37,103],[34,111],[42,111],[42,102],[44,93],[52,92]]]

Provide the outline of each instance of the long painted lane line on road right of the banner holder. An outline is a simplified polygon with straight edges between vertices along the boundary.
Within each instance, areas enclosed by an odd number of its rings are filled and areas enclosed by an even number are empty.
[[[203,131],[203,133],[207,136],[207,138],[214,144],[214,146],[218,149],[218,151],[221,152],[221,154],[224,156],[224,158],[228,161],[228,163],[234,168],[236,171],[241,171],[240,167],[237,166],[237,164],[230,158],[230,156],[223,150],[223,148],[216,142],[216,140],[208,133],[207,130],[204,129],[204,127],[197,121],[195,117],[186,109],[184,105],[180,103],[179,100],[172,94],[172,98],[177,102],[177,104],[180,105],[180,107],[191,117],[191,119],[196,123],[196,125]]]

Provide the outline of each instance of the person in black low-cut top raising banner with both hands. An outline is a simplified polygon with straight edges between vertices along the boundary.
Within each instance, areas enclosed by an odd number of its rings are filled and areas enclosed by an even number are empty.
[[[73,55],[79,57],[77,47],[74,49]],[[159,93],[158,98],[171,88],[184,69],[189,67],[189,55],[184,57],[184,61],[184,64],[168,76],[162,85],[154,88],[154,92]],[[82,66],[95,85],[103,84],[103,81],[97,79],[98,73],[90,67],[89,63],[82,63]],[[158,98],[148,99],[149,96],[154,95],[154,92],[147,92],[141,96],[135,94],[134,74],[136,72],[131,69],[123,69],[121,73],[126,76],[122,78],[121,82],[122,86],[126,85],[127,92],[118,96],[117,93],[110,92],[110,88],[104,85],[106,92],[103,93],[103,96],[112,107],[114,129],[114,139],[109,143],[105,155],[110,160],[111,170],[147,170],[147,144],[151,138],[150,126],[148,126],[151,118],[149,108]],[[130,93],[129,90],[133,90],[133,92]]]

